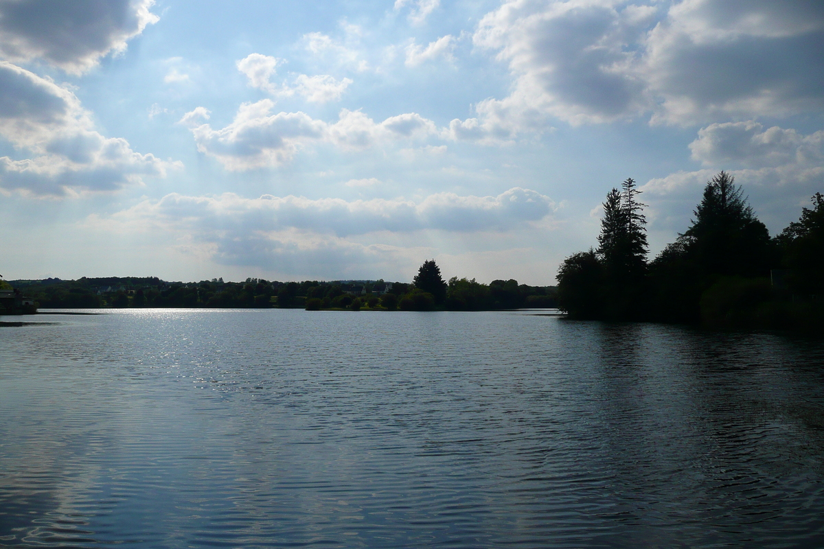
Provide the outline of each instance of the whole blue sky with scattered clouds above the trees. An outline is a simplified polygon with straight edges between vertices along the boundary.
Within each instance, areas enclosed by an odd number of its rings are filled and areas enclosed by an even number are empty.
[[[635,179],[824,192],[820,0],[0,0],[7,280],[555,282]]]

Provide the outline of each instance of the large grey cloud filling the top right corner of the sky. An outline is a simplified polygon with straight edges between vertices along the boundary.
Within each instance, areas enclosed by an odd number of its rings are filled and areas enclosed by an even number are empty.
[[[689,0],[649,33],[653,120],[692,123],[824,107],[822,2]]]

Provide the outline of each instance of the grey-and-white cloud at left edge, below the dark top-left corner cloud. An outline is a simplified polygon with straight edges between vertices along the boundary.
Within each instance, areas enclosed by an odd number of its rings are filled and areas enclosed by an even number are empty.
[[[170,166],[97,133],[77,97],[52,81],[0,62],[0,89],[0,136],[32,155],[0,158],[0,188],[41,196],[110,191]]]

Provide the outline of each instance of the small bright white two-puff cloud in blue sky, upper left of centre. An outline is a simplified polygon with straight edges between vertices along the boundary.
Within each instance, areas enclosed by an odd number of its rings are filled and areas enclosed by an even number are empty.
[[[350,78],[337,80],[328,74],[314,77],[305,74],[293,74],[291,82],[283,81],[283,84],[278,85],[272,82],[271,79],[276,75],[277,67],[282,63],[285,63],[283,59],[270,57],[269,55],[250,54],[237,62],[237,68],[246,74],[249,85],[252,87],[276,96],[301,95],[312,103],[339,100],[340,95],[352,83]]]

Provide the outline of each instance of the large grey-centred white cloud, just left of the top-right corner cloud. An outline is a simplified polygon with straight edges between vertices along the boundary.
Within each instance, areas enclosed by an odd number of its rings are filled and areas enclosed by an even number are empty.
[[[570,123],[639,114],[644,82],[632,69],[653,12],[616,3],[513,0],[487,14],[473,42],[497,50],[516,81],[512,95],[482,105],[485,119],[517,129],[531,110]]]

